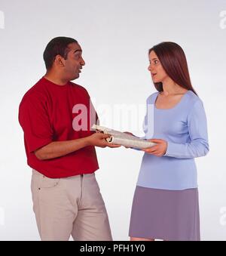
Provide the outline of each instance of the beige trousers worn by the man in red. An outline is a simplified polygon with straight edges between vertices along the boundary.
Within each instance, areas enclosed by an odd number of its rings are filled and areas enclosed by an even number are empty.
[[[112,240],[94,173],[51,179],[33,169],[32,200],[41,240]]]

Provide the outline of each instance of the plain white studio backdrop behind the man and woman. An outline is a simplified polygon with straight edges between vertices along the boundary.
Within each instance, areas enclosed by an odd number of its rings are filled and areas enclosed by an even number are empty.
[[[59,35],[77,39],[83,48],[86,66],[75,82],[89,91],[102,125],[137,135],[145,100],[154,92],[148,48],[162,41],[184,48],[209,128],[210,152],[197,159],[201,235],[226,239],[225,10],[225,0],[0,0],[0,240],[39,239],[17,114],[23,94],[44,75],[47,42]],[[123,104],[126,112],[117,112]],[[130,106],[139,113],[127,112]],[[142,153],[124,148],[97,153],[96,177],[112,235],[127,240]]]

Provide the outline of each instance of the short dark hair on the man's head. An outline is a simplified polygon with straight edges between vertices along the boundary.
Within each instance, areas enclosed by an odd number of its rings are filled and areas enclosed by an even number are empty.
[[[53,61],[55,60],[56,55],[59,54],[64,59],[67,58],[69,53],[68,45],[72,43],[78,44],[77,40],[75,39],[59,36],[55,37],[47,44],[43,54],[44,63],[47,70],[53,66]]]

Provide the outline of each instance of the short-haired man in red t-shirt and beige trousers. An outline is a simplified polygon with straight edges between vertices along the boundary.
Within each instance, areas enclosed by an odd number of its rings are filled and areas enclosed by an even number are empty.
[[[106,142],[107,134],[90,131],[89,94],[70,82],[78,79],[85,64],[81,54],[75,39],[52,39],[44,51],[47,72],[20,103],[19,122],[33,169],[33,209],[42,240],[68,240],[70,235],[75,240],[111,240],[94,174],[99,168],[94,146],[118,146]],[[81,120],[80,106],[86,110]]]

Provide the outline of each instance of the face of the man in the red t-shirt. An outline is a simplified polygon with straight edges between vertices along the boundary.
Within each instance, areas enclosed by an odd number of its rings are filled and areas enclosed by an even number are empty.
[[[64,61],[64,69],[66,77],[70,80],[78,79],[82,66],[84,66],[84,59],[81,57],[81,46],[72,43],[68,45],[69,52],[66,60]]]

